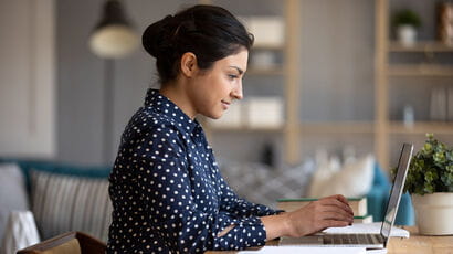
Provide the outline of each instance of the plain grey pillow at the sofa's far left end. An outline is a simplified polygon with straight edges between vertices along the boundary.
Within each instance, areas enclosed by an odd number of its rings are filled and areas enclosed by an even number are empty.
[[[29,210],[25,180],[19,166],[0,165],[0,241],[13,210]]]

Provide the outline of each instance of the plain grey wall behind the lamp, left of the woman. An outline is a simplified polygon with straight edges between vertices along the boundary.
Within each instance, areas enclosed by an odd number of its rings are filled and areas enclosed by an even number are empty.
[[[124,0],[137,31],[196,1]],[[113,147],[104,158],[105,62],[88,49],[88,38],[101,19],[103,0],[56,1],[57,52],[57,159],[84,165],[110,163],[130,116],[143,105],[155,81],[154,60],[140,46],[115,61]]]

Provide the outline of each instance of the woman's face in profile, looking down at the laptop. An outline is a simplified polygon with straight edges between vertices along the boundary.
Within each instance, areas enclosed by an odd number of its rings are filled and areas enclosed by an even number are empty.
[[[217,61],[193,77],[189,98],[196,114],[218,119],[234,99],[242,99],[242,77],[247,67],[249,51],[242,50]]]

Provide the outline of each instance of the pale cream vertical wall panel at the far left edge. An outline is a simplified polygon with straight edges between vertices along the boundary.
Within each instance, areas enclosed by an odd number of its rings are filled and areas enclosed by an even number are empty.
[[[55,156],[54,1],[0,1],[0,156]]]

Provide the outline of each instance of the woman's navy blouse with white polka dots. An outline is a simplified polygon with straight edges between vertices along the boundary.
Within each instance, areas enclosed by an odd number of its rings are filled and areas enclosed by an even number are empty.
[[[276,213],[231,190],[200,124],[155,89],[122,136],[109,182],[114,211],[108,253],[259,246],[266,239],[259,216]]]

